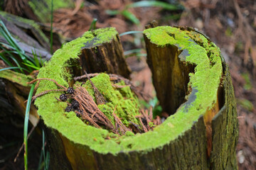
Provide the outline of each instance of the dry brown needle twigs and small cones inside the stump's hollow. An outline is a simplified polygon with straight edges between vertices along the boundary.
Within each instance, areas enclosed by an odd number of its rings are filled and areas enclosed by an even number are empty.
[[[124,80],[127,84],[130,83],[128,79],[124,79],[123,77],[117,75],[117,74],[110,74],[113,81],[120,81],[121,79]],[[108,130],[114,132],[115,134],[124,135],[127,131],[133,131],[135,133],[137,132],[148,132],[149,130],[153,130],[153,128],[150,127],[150,122],[154,123],[154,120],[152,120],[152,108],[150,108],[149,111],[142,111],[142,115],[139,115],[139,122],[140,125],[137,125],[136,123],[132,123],[131,121],[131,127],[127,128],[120,118],[114,113],[112,113],[115,125],[112,125],[112,122],[107,116],[100,111],[100,109],[97,107],[97,105],[106,103],[105,98],[100,94],[100,91],[98,91],[97,87],[92,83],[90,77],[95,77],[97,74],[87,74],[85,72],[85,75],[82,77],[75,77],[75,80],[78,79],[88,79],[90,81],[90,84],[92,85],[92,89],[95,91],[95,98],[97,103],[93,100],[92,96],[88,93],[88,91],[79,85],[74,85],[75,89],[69,87],[66,88],[65,86],[62,86],[58,84],[57,81],[54,79],[48,79],[48,78],[41,78],[41,79],[35,79],[33,81],[30,81],[28,84],[33,84],[37,81],[36,88],[38,87],[39,83],[42,80],[48,80],[53,81],[58,87],[62,89],[53,89],[53,90],[47,90],[43,91],[41,94],[38,94],[36,96],[33,96],[32,100],[35,100],[36,98],[43,96],[44,94],[48,94],[50,91],[64,91],[65,94],[60,95],[60,99],[56,98],[58,101],[67,101],[67,99],[73,100],[73,102],[68,103],[67,108],[65,108],[66,112],[75,111],[76,115],[80,117],[82,120],[87,121],[87,123],[90,123],[90,125],[95,126],[95,128],[107,128]],[[129,84],[131,86],[131,84]],[[118,86],[117,86],[118,87]],[[71,90],[72,89],[72,90]],[[70,91],[71,92],[70,92]],[[63,96],[63,97],[62,97]],[[74,104],[76,103],[76,104]],[[159,122],[156,121],[156,123],[159,124]]]

